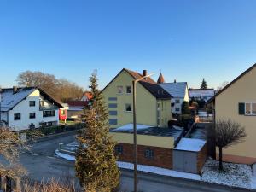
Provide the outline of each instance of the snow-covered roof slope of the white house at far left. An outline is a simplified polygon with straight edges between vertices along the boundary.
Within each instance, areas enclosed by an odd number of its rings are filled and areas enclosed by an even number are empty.
[[[29,96],[36,88],[26,87],[19,88],[15,93],[13,89],[3,89],[1,96],[1,111],[9,111],[11,108],[14,108],[19,102]]]

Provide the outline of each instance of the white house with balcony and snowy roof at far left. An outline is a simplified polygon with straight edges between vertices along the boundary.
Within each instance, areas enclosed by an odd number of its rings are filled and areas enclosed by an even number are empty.
[[[14,131],[59,124],[59,102],[36,87],[10,88],[1,91],[0,122]]]

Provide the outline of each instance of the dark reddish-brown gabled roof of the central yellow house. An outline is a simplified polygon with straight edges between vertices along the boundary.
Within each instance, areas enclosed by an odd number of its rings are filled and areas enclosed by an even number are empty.
[[[143,74],[141,73],[137,73],[137,72],[134,72],[134,71],[131,71],[129,69],[125,69],[123,68],[109,83],[111,84],[113,82],[114,79],[116,79],[120,73],[122,72],[126,72],[128,74],[131,75],[131,77],[133,79],[140,79],[143,77]],[[172,98],[172,96],[166,91],[164,90],[163,88],[160,87],[159,84],[156,84],[155,81],[153,79],[151,79],[150,77],[147,78],[147,79],[142,79],[141,81],[139,81],[139,84],[142,84],[143,87],[148,90],[148,92],[150,92],[154,97],[156,97],[157,99],[170,99]],[[102,90],[104,91],[108,85]]]

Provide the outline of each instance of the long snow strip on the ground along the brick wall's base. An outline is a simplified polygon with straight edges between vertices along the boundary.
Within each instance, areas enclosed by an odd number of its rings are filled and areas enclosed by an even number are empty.
[[[118,164],[119,168],[133,170],[132,163],[117,161],[117,164]],[[155,173],[158,175],[171,176],[171,177],[181,177],[181,178],[188,178],[188,179],[193,179],[193,180],[201,180],[201,177],[196,174],[186,173],[186,172],[176,172],[176,171],[173,171],[170,169],[164,169],[164,168],[160,168],[160,167],[156,167],[156,166],[137,165],[137,171],[150,172],[150,173]]]

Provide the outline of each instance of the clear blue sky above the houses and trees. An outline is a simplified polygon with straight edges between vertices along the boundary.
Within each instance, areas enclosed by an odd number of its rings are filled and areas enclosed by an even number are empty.
[[[0,85],[39,70],[103,87],[123,67],[210,87],[256,62],[254,0],[0,0]]]

